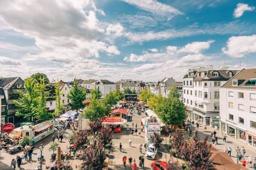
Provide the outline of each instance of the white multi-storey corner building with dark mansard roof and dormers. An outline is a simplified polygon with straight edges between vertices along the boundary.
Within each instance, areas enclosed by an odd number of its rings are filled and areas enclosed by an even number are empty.
[[[213,69],[212,66],[191,70],[191,76],[183,80],[183,99],[193,120],[199,124],[219,127],[220,87],[235,70]],[[192,77],[192,75],[195,75]],[[188,75],[188,74],[187,74]]]

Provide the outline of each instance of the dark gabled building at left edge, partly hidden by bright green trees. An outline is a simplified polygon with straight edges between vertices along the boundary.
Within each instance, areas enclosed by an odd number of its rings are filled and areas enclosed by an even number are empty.
[[[1,100],[2,122],[20,124],[22,118],[15,116],[17,110],[14,104],[14,101],[19,101],[18,90],[25,92],[24,81],[20,77],[1,78],[0,94],[4,94],[4,99]]]

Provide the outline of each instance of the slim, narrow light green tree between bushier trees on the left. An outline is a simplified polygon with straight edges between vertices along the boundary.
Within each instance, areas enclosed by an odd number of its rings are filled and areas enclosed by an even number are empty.
[[[37,121],[44,122],[45,120],[49,120],[52,117],[51,113],[48,113],[46,110],[46,99],[49,96],[49,92],[45,89],[45,81],[41,80],[38,85],[38,97],[36,97],[36,107],[33,108],[35,113],[34,117]]]

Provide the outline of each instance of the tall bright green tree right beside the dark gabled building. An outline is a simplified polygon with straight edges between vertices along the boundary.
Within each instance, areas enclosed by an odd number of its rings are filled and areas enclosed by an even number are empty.
[[[24,81],[24,88],[26,93],[18,90],[20,102],[14,101],[17,108],[15,115],[23,118],[34,117],[34,108],[38,105],[36,99],[38,97],[38,91],[36,90],[38,83],[33,78],[27,78]]]

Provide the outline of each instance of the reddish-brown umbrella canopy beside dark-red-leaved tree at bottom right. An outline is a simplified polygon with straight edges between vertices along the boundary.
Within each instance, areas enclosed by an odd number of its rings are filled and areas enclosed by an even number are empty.
[[[234,164],[234,161],[227,152],[211,151],[211,153],[210,160],[214,164]]]

